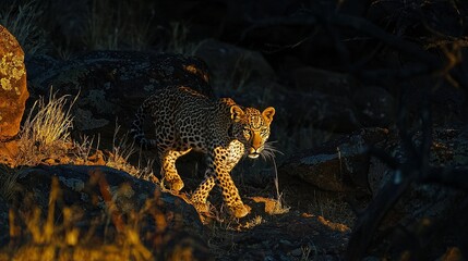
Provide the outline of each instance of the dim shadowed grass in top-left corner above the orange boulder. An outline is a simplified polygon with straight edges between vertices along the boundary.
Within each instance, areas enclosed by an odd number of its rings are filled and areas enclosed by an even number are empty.
[[[13,1],[14,2],[14,1]],[[38,26],[44,13],[37,1],[0,4],[0,24],[20,42],[26,54],[41,54],[47,51],[45,32]]]

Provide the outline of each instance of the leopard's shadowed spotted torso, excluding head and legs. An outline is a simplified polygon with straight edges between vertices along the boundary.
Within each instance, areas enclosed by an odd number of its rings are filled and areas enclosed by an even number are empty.
[[[142,103],[135,114],[131,135],[144,149],[166,145],[189,146],[205,151],[205,130],[213,122],[215,110],[216,101],[189,87],[168,87],[156,91]],[[155,128],[152,139],[144,132],[144,123],[148,120]]]

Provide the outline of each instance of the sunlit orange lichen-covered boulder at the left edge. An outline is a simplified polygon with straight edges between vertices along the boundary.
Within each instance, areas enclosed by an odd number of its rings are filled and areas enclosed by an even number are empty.
[[[24,52],[15,37],[0,25],[0,141],[20,132],[29,92],[26,87]]]

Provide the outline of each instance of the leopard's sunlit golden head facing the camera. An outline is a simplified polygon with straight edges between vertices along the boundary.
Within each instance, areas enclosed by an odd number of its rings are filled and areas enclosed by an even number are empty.
[[[275,115],[273,107],[260,112],[255,108],[232,105],[230,109],[233,120],[233,136],[245,146],[245,153],[251,159],[256,159],[265,149],[265,142],[269,137],[269,124]]]

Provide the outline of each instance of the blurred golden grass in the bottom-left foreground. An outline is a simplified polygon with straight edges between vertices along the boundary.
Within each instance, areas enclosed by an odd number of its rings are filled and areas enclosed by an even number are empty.
[[[106,186],[106,183],[99,182],[99,186]],[[100,190],[103,191],[103,188]],[[156,222],[157,231],[164,232],[167,228],[167,222],[161,222],[165,216],[154,210],[157,207],[155,199],[148,199],[140,212],[129,215],[124,221],[116,219],[122,215],[115,207],[118,192],[103,195],[107,212],[97,220],[110,220],[117,232],[107,233],[107,236],[101,238],[96,226],[103,224],[95,223],[89,229],[82,231],[76,226],[80,223],[80,217],[76,216],[81,214],[72,207],[64,207],[61,214],[55,213],[60,195],[59,182],[53,178],[45,219],[40,209],[34,206],[29,212],[10,211],[11,243],[7,249],[0,251],[1,260],[154,260],[152,250],[140,239],[140,224],[147,214],[156,213],[151,215],[159,220]],[[57,216],[61,216],[62,221],[56,220]],[[101,238],[98,239],[99,244],[96,244],[96,238]]]

